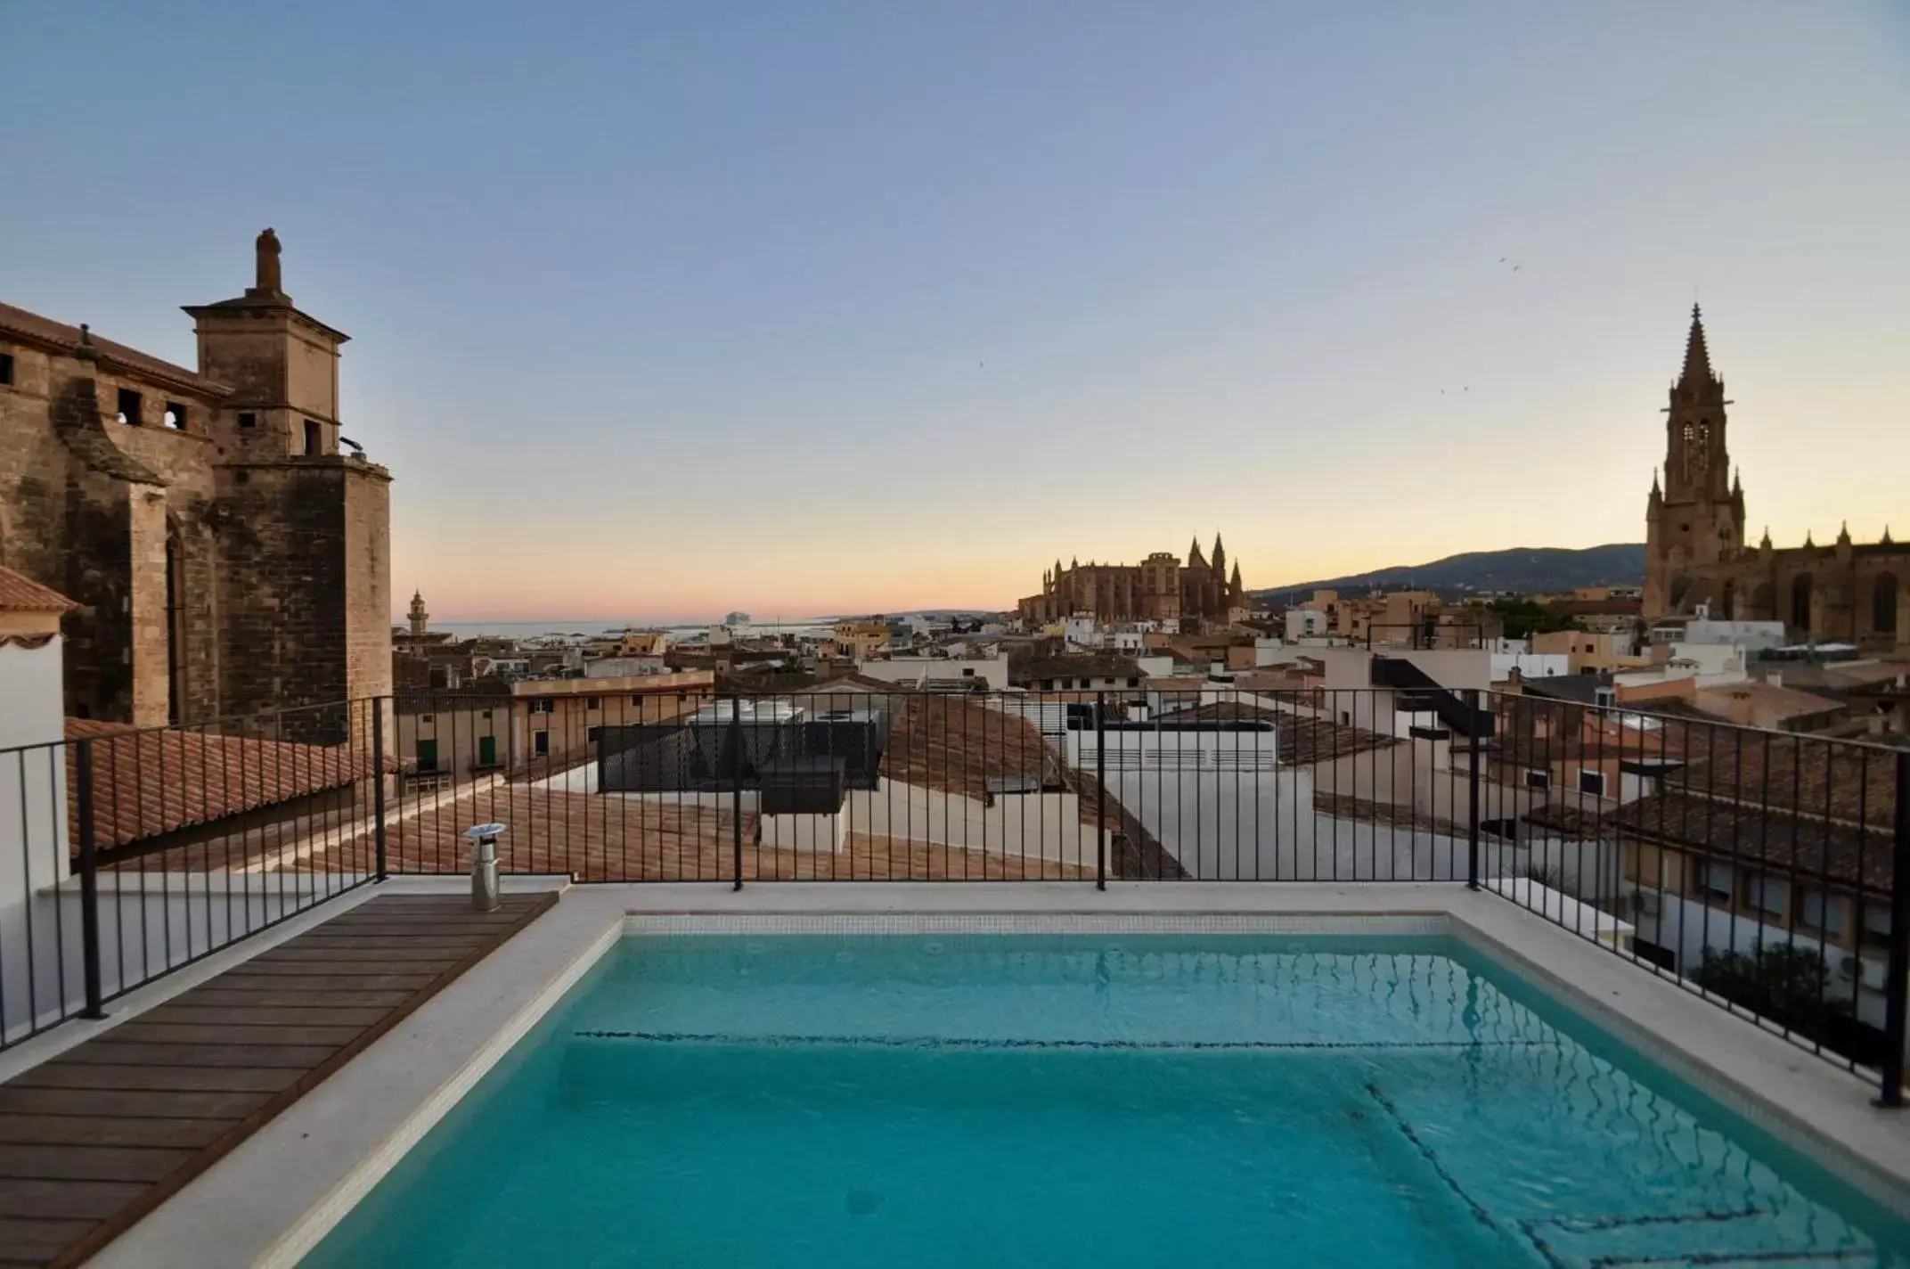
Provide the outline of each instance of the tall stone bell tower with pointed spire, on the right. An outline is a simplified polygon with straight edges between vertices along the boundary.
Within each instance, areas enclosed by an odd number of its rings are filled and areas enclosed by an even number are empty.
[[[1704,317],[1690,308],[1685,369],[1666,405],[1664,485],[1645,505],[1645,617],[1681,612],[1696,575],[1744,547],[1744,487],[1725,443],[1725,380],[1711,373]]]

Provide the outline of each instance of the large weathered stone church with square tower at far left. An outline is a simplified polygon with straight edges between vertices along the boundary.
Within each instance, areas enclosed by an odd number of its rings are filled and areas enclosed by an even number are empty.
[[[0,304],[0,564],[71,596],[71,717],[162,726],[392,690],[390,472],[340,453],[338,348],[279,237],[185,310],[199,369]],[[359,711],[363,713],[363,711]],[[344,740],[346,711],[286,715]]]

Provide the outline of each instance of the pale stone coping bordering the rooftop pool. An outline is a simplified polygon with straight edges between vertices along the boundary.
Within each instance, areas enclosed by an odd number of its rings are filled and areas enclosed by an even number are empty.
[[[460,891],[393,879],[365,894]],[[512,889],[552,883],[521,881]],[[363,900],[357,900],[363,902]],[[288,921],[208,957],[118,1019],[334,915]],[[1280,933],[1444,931],[1602,1024],[1847,1185],[1910,1215],[1910,1120],[1870,1105],[1874,1086],[1704,1003],[1496,894],[1392,883],[753,883],[569,887],[558,906],[458,977],[231,1154],[94,1258],[101,1269],[296,1265],[544,1013],[626,933],[684,929],[961,929]],[[174,986],[176,984],[176,986]],[[155,998],[141,1000],[153,992]],[[115,1021],[118,1021],[115,1019]],[[111,1024],[111,1022],[107,1022]],[[84,1034],[69,1040],[67,1032]],[[69,1047],[99,1022],[44,1040]],[[21,1045],[23,1049],[34,1045]],[[46,1057],[50,1045],[38,1045]],[[25,1053],[0,1055],[6,1059]],[[0,1076],[6,1065],[0,1063]]]

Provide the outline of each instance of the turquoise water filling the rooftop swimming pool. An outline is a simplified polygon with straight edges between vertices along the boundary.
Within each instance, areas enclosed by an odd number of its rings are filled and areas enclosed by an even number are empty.
[[[1442,938],[626,938],[306,1259],[1910,1265]]]

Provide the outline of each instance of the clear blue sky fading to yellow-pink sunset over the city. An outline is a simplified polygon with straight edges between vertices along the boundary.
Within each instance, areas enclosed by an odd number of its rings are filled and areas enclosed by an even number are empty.
[[[6,25],[0,296],[189,363],[275,226],[443,617],[1641,539],[1694,292],[1753,533],[1910,533],[1904,4]]]

